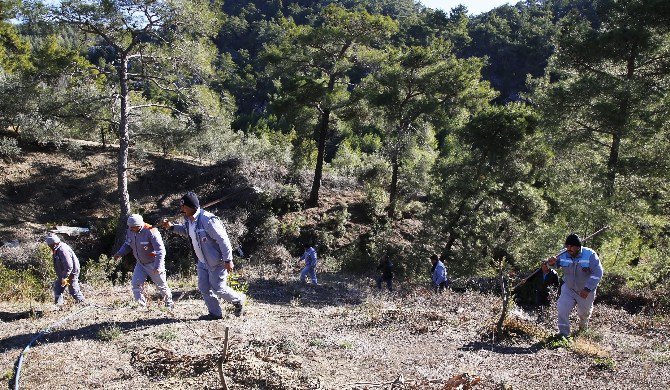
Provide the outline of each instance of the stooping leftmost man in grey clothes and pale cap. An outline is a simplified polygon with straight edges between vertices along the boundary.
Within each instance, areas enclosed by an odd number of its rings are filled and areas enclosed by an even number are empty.
[[[54,303],[56,306],[63,305],[63,292],[65,288],[77,303],[84,302],[84,295],[79,289],[79,259],[70,246],[60,240],[55,234],[46,238],[46,243],[51,248],[54,261],[56,280],[53,284]]]

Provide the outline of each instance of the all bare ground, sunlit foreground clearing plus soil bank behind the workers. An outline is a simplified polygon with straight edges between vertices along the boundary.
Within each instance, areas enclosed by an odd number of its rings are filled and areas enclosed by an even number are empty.
[[[29,150],[20,161],[0,165],[1,241],[18,240],[23,250],[34,247],[53,223],[95,226],[110,216],[114,151],[73,150]],[[230,217],[231,235],[239,236],[240,224],[253,222],[254,194],[272,190],[271,167],[156,156],[141,161],[133,164],[131,194],[134,207],[153,221],[173,216],[179,195],[195,189],[205,202],[225,198],[216,211]],[[360,197],[326,190],[320,208],[285,218],[316,223],[344,202],[352,217],[333,245],[346,245],[364,233],[357,220]],[[410,237],[412,221],[400,228]],[[66,240],[82,258],[97,258],[108,250],[99,234]],[[148,310],[134,308],[128,282],[84,282],[90,304],[64,311],[48,302],[0,302],[2,378],[11,387],[23,348],[38,332],[67,319],[25,356],[22,388],[218,389],[216,361],[226,327],[224,371],[231,389],[657,389],[670,383],[670,320],[658,313],[630,314],[597,303],[591,331],[567,343],[550,338],[555,308],[540,316],[515,309],[510,334],[496,340],[496,295],[436,295],[420,280],[403,279],[397,292],[379,293],[369,275],[343,273],[332,260],[320,268],[323,285],[301,286],[291,262],[296,253],[284,253],[279,262],[264,255],[240,259],[238,280],[250,298],[241,318],[228,306],[223,320],[198,320],[205,308],[193,278],[170,278],[172,313],[155,300]]]

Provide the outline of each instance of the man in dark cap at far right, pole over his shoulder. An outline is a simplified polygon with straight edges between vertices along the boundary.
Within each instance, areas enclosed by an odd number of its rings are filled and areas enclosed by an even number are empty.
[[[583,247],[582,240],[572,233],[565,239],[566,251],[546,260],[550,267],[563,269],[563,286],[558,298],[558,331],[570,335],[570,312],[577,307],[579,330],[586,330],[593,311],[596,288],[603,277],[598,254]]]

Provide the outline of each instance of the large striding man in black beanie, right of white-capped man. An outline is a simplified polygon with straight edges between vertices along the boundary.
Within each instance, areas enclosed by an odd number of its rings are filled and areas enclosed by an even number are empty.
[[[183,224],[172,224],[163,220],[163,227],[189,237],[198,258],[198,290],[202,294],[208,313],[200,318],[217,320],[223,318],[217,297],[235,306],[234,314],[242,315],[246,296],[228,286],[228,274],[233,271],[233,250],[228,233],[219,218],[200,208],[198,196],[187,192],[180,202],[184,214]]]

